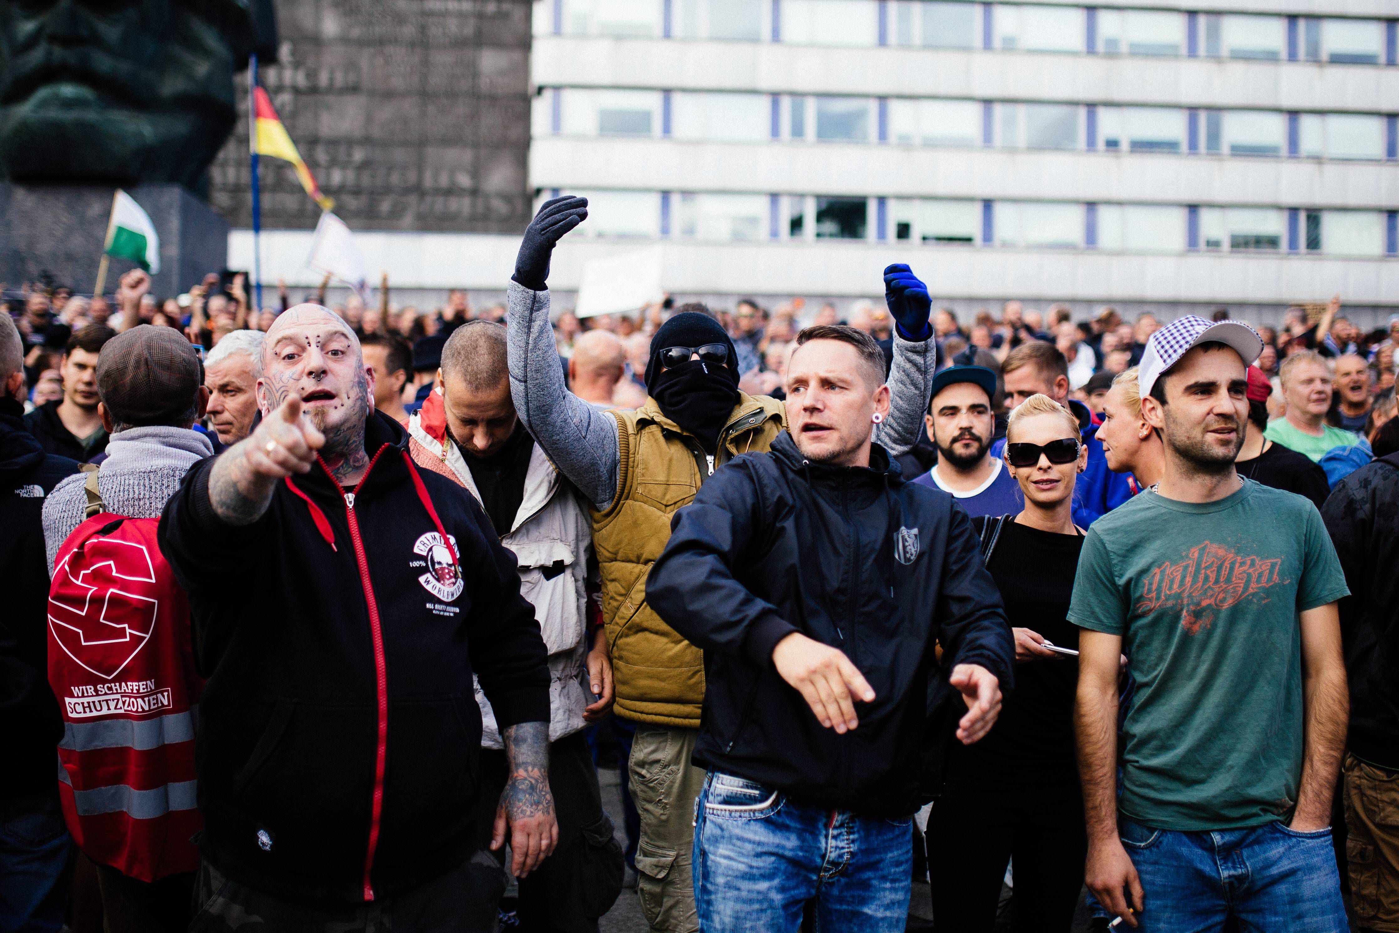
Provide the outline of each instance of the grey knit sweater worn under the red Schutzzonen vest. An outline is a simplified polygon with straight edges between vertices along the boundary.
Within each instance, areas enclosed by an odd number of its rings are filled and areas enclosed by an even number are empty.
[[[133,519],[155,518],[175,495],[192,466],[214,455],[214,446],[189,428],[127,428],[106,445],[106,460],[97,474],[102,504],[113,515]],[[76,473],[53,487],[43,504],[43,543],[49,553],[49,575],[59,546],[83,525],[87,511],[85,473]]]

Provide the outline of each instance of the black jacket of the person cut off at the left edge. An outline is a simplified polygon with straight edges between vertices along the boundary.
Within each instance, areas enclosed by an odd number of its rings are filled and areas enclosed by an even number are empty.
[[[0,800],[56,792],[59,702],[49,690],[49,562],[43,502],[78,464],[43,452],[24,406],[0,399]]]

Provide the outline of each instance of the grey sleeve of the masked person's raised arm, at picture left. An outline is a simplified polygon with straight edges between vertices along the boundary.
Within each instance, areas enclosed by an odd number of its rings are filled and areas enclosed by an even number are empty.
[[[506,348],[511,397],[525,428],[548,459],[599,509],[617,495],[621,453],[617,420],[597,411],[564,385],[554,330],[548,323],[548,291],[509,288]]]

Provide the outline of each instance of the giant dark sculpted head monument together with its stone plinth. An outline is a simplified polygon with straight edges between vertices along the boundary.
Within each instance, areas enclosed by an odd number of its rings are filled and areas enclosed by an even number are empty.
[[[0,281],[91,290],[115,186],[161,238],[152,294],[222,269],[228,225],[200,199],[234,74],[276,45],[271,0],[0,3]]]

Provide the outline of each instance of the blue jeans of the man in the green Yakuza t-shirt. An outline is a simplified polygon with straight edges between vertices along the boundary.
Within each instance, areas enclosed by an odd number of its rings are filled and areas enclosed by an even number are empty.
[[[1283,822],[1174,832],[1118,820],[1118,835],[1146,892],[1142,933],[1346,933],[1330,829]]]

